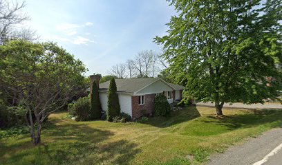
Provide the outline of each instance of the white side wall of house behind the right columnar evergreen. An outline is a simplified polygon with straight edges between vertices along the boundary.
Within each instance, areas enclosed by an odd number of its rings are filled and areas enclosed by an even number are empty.
[[[101,107],[104,111],[108,110],[108,93],[100,92],[100,102]],[[128,113],[132,117],[132,105],[131,105],[131,95],[129,94],[118,94],[118,99],[120,101],[120,111]]]

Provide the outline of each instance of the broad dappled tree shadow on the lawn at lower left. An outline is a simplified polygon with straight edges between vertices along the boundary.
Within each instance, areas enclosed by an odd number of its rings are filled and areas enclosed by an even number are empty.
[[[58,121],[44,123],[39,146],[31,142],[1,144],[10,152],[3,164],[129,164],[140,153],[137,144],[126,140],[104,142],[114,135],[111,131],[79,122],[57,124]],[[18,148],[22,151],[17,152]]]

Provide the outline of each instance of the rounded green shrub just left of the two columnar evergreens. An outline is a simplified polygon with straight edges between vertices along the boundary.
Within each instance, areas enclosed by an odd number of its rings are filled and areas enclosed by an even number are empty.
[[[75,115],[75,120],[89,120],[90,103],[88,97],[79,98],[71,106],[68,106],[68,108],[68,111],[73,112],[73,115]]]

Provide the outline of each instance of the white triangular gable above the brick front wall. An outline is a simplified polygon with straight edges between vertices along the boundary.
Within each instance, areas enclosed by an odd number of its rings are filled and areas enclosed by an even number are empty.
[[[141,91],[138,91],[136,95],[143,94],[158,94],[162,93],[162,91],[173,91],[173,88],[169,87],[166,83],[162,82],[162,80],[158,80],[155,83],[145,87]]]

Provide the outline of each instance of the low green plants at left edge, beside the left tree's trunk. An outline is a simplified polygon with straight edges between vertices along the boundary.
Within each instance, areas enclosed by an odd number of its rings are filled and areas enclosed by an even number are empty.
[[[13,126],[9,129],[0,130],[0,139],[6,139],[9,137],[19,137],[29,133],[28,126]]]

